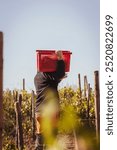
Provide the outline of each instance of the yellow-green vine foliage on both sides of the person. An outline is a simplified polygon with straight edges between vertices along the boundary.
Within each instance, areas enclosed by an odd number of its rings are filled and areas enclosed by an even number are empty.
[[[75,129],[76,136],[84,136],[95,139],[95,109],[94,91],[90,91],[90,100],[80,96],[80,90],[72,87],[64,87],[59,90],[60,96],[60,127],[61,134],[70,134]],[[5,90],[3,93],[4,130],[3,130],[3,150],[17,150],[16,148],[16,113],[15,98],[17,90]],[[32,132],[32,92],[26,90],[18,91],[22,95],[21,113],[23,127],[24,150],[33,150],[34,140]],[[34,100],[36,96],[34,96]],[[96,148],[95,148],[96,150]]]

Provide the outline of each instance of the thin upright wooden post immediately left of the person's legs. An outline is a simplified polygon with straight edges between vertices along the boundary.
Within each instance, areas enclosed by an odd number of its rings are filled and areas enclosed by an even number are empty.
[[[35,102],[34,102],[34,91],[32,90],[32,137],[35,140]]]

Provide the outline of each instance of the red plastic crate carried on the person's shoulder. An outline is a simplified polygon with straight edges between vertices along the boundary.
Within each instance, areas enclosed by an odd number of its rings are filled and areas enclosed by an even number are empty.
[[[37,71],[54,72],[56,71],[57,57],[55,50],[36,50],[37,52]],[[65,72],[70,71],[70,51],[62,51],[65,62]]]

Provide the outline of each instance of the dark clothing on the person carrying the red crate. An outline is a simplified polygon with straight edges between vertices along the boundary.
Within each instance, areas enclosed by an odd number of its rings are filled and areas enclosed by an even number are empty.
[[[56,66],[55,72],[37,72],[34,78],[37,93],[36,111],[38,110],[41,102],[46,99],[47,95],[45,93],[48,89],[52,89],[59,99],[57,87],[61,78],[65,75],[65,63],[63,60],[58,60]]]

